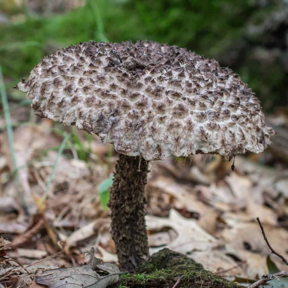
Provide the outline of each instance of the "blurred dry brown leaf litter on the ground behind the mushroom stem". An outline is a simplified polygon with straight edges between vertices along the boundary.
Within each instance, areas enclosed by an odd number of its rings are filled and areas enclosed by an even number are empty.
[[[21,122],[23,113],[17,119],[13,111],[13,123]],[[84,150],[79,153],[78,146],[66,143],[48,198],[43,201],[63,133],[76,133]],[[111,183],[115,152],[111,154],[111,148],[97,137],[89,143],[82,131],[63,131],[62,126],[38,118],[27,125],[16,125],[14,147],[28,214],[16,189],[7,135],[0,130],[0,231],[2,239],[12,242],[11,250],[5,253],[16,261],[1,261],[0,283],[5,279],[14,287],[21,281],[19,287],[38,287],[35,276],[29,275],[49,269],[60,269],[58,272],[66,275],[68,267],[83,267],[83,252],[91,247],[104,262],[117,262],[109,233],[109,209],[103,209],[98,193],[109,190],[106,184]],[[151,163],[146,186],[150,253],[168,247],[222,276],[242,279],[268,274],[268,257],[278,270],[287,269],[281,259],[271,255],[256,222],[260,217],[273,248],[287,256],[288,165],[271,153],[268,150],[264,156],[237,156],[234,172],[232,162],[218,156],[197,155]],[[81,158],[84,154],[87,159]],[[272,155],[272,161],[263,162],[265,155],[267,159]],[[58,241],[66,243],[64,253],[49,258],[59,251]],[[0,245],[0,257],[4,253],[1,251]],[[43,259],[46,261],[29,266]],[[27,271],[19,270],[20,264],[29,266]],[[55,281],[59,281],[58,272],[52,271],[56,273]]]

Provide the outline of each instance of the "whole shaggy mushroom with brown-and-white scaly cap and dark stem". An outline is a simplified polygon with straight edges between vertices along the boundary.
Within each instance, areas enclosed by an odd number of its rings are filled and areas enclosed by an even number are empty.
[[[16,88],[40,117],[96,134],[119,153],[108,205],[120,268],[129,271],[148,256],[150,160],[198,153],[230,160],[262,152],[274,133],[238,75],[156,42],[72,45],[46,56]]]

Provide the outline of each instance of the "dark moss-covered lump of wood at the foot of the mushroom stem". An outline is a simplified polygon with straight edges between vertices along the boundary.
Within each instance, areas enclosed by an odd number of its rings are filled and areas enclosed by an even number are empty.
[[[202,264],[191,258],[167,248],[151,255],[133,275],[121,275],[113,288],[171,288],[182,275],[178,288],[244,288],[205,270]]]

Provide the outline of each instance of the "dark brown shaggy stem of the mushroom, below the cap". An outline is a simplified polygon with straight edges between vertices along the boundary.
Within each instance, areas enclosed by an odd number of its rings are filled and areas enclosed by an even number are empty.
[[[144,218],[148,163],[140,160],[140,157],[119,154],[108,203],[120,270],[129,272],[134,272],[149,255]]]

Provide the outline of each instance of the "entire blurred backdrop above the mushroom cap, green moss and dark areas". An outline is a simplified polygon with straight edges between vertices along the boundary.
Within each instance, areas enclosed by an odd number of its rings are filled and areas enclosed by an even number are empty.
[[[0,0],[0,65],[10,97],[53,50],[138,39],[217,59],[266,111],[288,104],[287,0]]]

